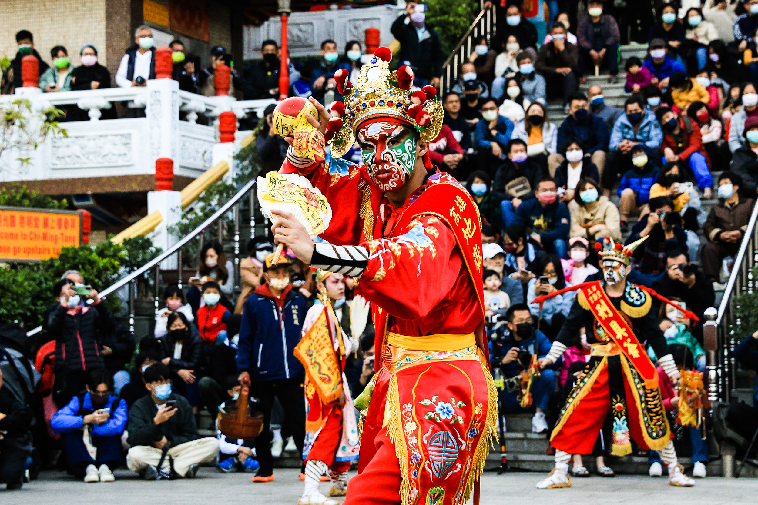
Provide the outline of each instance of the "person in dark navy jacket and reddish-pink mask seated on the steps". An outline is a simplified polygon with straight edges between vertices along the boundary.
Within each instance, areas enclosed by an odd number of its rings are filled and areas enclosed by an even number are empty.
[[[545,251],[567,257],[568,229],[570,215],[568,207],[558,201],[556,182],[543,177],[534,192],[537,198],[523,202],[511,215],[503,212],[503,223],[507,226],[528,226],[531,237],[539,242]]]

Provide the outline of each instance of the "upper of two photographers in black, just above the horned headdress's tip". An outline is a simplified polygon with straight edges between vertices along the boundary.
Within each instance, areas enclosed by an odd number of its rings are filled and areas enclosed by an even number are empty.
[[[631,235],[624,242],[628,245],[647,236],[647,240],[634,250],[632,263],[638,273],[647,274],[649,277],[632,281],[648,287],[666,271],[666,254],[669,251],[687,251],[687,234],[681,228],[681,216],[673,211],[674,203],[671,198],[650,198],[649,205],[650,214],[637,221],[631,229]]]

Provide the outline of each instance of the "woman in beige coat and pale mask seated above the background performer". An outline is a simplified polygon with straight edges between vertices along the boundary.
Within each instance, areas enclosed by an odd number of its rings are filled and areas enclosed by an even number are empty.
[[[600,185],[594,179],[579,179],[574,199],[568,202],[568,212],[571,214],[568,236],[588,241],[611,237],[614,242],[621,242],[619,209],[599,191]]]

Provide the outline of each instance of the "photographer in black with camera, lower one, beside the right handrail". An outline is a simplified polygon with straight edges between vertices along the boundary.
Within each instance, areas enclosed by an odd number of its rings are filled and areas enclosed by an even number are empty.
[[[713,283],[690,263],[688,254],[681,249],[666,254],[666,275],[653,284],[653,289],[666,298],[680,298],[700,321],[705,321],[703,312],[716,301]]]

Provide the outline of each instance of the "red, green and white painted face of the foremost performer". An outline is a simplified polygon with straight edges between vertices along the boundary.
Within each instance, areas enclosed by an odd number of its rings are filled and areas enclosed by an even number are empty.
[[[388,120],[361,126],[358,142],[363,163],[381,191],[399,189],[413,173],[416,143],[401,123]]]

